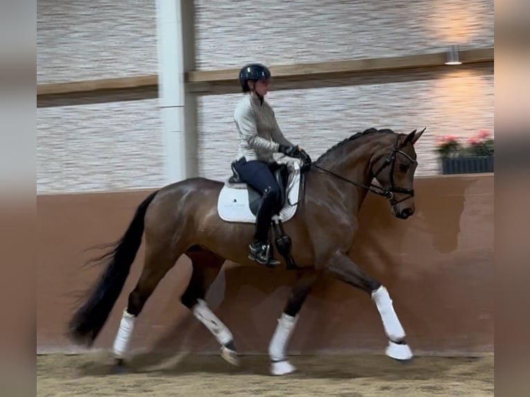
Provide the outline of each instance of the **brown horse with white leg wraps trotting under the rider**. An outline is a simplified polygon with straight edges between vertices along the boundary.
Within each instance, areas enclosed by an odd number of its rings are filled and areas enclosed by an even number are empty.
[[[279,266],[294,266],[302,271],[291,286],[268,346],[272,375],[297,370],[286,355],[288,340],[312,287],[321,277],[329,275],[371,297],[388,338],[386,355],[401,362],[412,359],[412,350],[387,288],[349,259],[348,252],[358,232],[358,213],[368,192],[384,196],[390,212],[398,219],[408,219],[414,214],[417,168],[414,144],[424,131],[425,128],[395,133],[392,129],[370,128],[338,142],[315,162],[305,152],[297,158],[291,156],[289,186],[285,178],[278,178],[285,197],[282,212],[275,214],[273,224],[283,220],[284,234],[277,243],[285,243],[285,239],[288,246],[292,243],[289,247],[292,252],[285,252],[285,246],[277,244],[284,256],[280,257]],[[304,160],[302,167],[293,167],[292,163],[299,164],[300,159]],[[221,218],[222,194],[229,194],[236,205]],[[71,317],[68,337],[76,344],[88,347],[93,344],[121,293],[145,236],[143,269],[129,293],[113,343],[116,367],[127,368],[127,349],[135,321],[181,255],[188,256],[192,263],[189,284],[181,295],[182,304],[217,339],[221,356],[230,364],[239,365],[230,329],[212,312],[204,297],[226,260],[244,266],[264,266],[249,259],[246,243],[252,241],[254,232],[252,216],[256,205],[254,210],[250,207],[256,201],[259,205],[255,194],[251,187],[237,181],[237,176],[229,181],[187,178],[149,194],[138,205],[122,237],[111,243],[111,249],[102,257],[94,259],[106,260],[107,265],[89,290],[86,302]],[[295,203],[291,202],[293,197]]]

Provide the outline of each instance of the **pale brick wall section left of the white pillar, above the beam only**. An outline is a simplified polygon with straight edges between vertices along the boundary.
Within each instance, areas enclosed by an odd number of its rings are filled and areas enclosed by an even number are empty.
[[[37,83],[157,73],[154,0],[39,0]]]

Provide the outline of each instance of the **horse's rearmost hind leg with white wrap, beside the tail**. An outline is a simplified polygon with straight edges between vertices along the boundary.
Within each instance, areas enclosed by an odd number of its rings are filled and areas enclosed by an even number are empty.
[[[142,273],[136,287],[129,293],[127,308],[123,311],[120,328],[113,344],[113,354],[119,366],[124,364],[136,318],[158,283],[174,266],[180,255],[181,252],[167,252],[167,248],[163,246],[146,246]]]

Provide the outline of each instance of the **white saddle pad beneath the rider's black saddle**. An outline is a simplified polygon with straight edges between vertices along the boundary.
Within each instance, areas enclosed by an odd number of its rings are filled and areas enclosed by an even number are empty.
[[[273,216],[273,219],[286,222],[294,216],[298,207],[300,165],[294,160],[281,164],[274,176],[280,186],[282,210],[280,215]],[[217,212],[223,221],[255,223],[261,200],[261,194],[241,181],[234,172],[219,192]]]

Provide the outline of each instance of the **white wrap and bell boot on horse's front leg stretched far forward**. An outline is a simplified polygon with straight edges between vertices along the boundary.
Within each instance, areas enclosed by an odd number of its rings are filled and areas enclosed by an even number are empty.
[[[380,286],[372,292],[372,299],[376,303],[377,310],[381,315],[385,333],[390,339],[386,350],[387,356],[396,360],[410,360],[412,358],[412,351],[408,344],[404,342],[405,330],[403,330],[396,311],[394,311],[392,299],[390,299],[390,295],[385,286]]]

